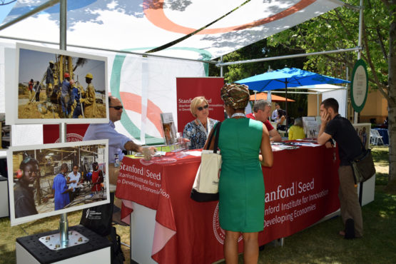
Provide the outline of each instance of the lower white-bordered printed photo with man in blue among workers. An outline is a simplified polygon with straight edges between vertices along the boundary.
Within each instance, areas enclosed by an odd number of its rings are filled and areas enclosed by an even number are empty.
[[[108,203],[108,141],[10,147],[11,225]]]

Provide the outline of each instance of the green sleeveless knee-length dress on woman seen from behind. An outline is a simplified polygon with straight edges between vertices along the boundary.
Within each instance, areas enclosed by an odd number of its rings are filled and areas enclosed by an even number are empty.
[[[250,118],[228,118],[220,126],[219,220],[224,230],[264,228],[264,179],[258,160],[262,134],[263,123]]]

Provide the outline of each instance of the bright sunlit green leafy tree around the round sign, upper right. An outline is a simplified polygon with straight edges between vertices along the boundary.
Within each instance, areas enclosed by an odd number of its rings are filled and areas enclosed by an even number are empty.
[[[359,6],[359,0],[346,0]],[[390,171],[388,188],[396,189],[396,1],[365,0],[362,25],[362,54],[367,64],[369,86],[387,99],[390,131]],[[310,52],[347,49],[358,46],[359,11],[341,7],[268,38],[268,45],[283,45],[294,51]],[[305,69],[345,78],[357,54],[344,52],[308,56]],[[370,102],[367,102],[370,103]]]

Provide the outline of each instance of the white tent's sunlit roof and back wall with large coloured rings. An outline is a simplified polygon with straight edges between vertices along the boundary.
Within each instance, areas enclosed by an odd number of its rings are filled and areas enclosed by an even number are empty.
[[[108,57],[111,92],[116,88],[122,92],[121,101],[134,98],[133,106],[138,105],[127,108],[118,129],[141,143],[162,140],[159,115],[158,120],[148,118],[153,114],[148,105],[176,116],[176,106],[170,103],[176,98],[176,77],[208,74],[205,64],[191,59],[228,54],[343,4],[337,0],[68,0],[67,19],[62,21],[59,5],[49,7],[57,2],[17,1],[0,26],[0,54],[6,46],[13,49],[16,41],[59,47],[59,35],[63,36],[59,32],[65,27],[68,50]],[[153,49],[158,51],[139,54]],[[5,67],[1,60],[0,80]],[[0,95],[4,89],[0,81]],[[4,111],[2,99],[0,112]]]

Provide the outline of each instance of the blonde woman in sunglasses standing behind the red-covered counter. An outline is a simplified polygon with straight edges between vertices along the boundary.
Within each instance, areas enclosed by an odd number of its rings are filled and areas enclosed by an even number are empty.
[[[218,121],[208,118],[209,103],[203,96],[193,98],[190,111],[196,119],[186,124],[183,130],[183,138],[190,140],[188,149],[203,148],[208,134]]]

